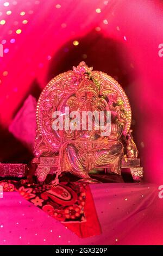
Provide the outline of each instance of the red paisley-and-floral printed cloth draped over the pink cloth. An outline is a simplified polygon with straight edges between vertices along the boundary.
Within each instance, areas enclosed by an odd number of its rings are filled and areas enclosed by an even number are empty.
[[[86,183],[60,182],[58,186],[54,186],[31,185],[27,180],[3,180],[0,185],[4,191],[18,191],[79,237],[101,234],[90,187]]]

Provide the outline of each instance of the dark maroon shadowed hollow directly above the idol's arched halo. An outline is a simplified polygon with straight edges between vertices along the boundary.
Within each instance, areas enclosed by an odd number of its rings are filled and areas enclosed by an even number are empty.
[[[126,51],[124,46],[115,40],[105,38],[101,33],[90,32],[83,38],[77,38],[79,45],[74,46],[73,40],[68,41],[55,54],[49,66],[47,82],[54,76],[77,66],[84,61],[93,70],[99,70],[114,77],[126,88],[130,83],[127,66],[122,59],[125,59]]]

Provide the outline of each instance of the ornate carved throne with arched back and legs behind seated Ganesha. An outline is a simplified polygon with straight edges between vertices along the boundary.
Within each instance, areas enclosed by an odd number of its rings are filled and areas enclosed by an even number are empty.
[[[92,71],[84,62],[81,62],[77,67],[73,66],[73,70],[64,72],[54,77],[47,86],[43,89],[36,109],[36,139],[33,162],[37,162],[36,175],[39,181],[44,181],[48,173],[55,173],[57,168],[57,159],[60,148],[59,133],[52,129],[53,117],[52,113],[55,110],[64,112],[66,101],[76,93],[78,84],[82,81],[83,75],[91,74],[98,81],[100,87],[99,95],[105,99],[118,103],[124,107],[126,113],[126,125],[123,130],[123,135],[126,136],[130,130],[131,124],[131,108],[128,97],[120,84],[111,76],[100,72]],[[53,170],[51,170],[53,167]],[[130,172],[135,181],[140,181],[142,178],[142,167],[140,167],[139,159],[123,159],[122,168],[130,168]],[[107,166],[104,166],[107,169]]]

